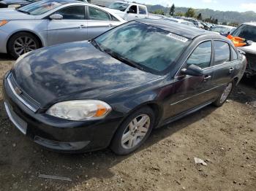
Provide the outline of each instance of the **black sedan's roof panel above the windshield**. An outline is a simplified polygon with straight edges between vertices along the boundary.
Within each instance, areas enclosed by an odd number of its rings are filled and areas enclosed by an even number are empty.
[[[137,21],[149,26],[161,28],[162,30],[169,31],[170,33],[184,36],[188,39],[195,39],[195,37],[201,36],[204,34],[212,34],[209,31],[206,31],[200,28],[192,28],[192,27],[183,25],[181,23],[170,23],[170,22],[167,22],[167,20],[165,19],[143,19],[143,20],[137,20]]]

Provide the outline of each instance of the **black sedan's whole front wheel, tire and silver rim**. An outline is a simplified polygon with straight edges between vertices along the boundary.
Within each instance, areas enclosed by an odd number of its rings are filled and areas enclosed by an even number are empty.
[[[133,112],[116,131],[111,149],[117,155],[128,155],[138,149],[151,133],[155,116],[148,106]]]

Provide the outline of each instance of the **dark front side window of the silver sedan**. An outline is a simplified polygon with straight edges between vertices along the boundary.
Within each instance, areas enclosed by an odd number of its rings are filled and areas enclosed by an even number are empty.
[[[65,7],[56,12],[63,16],[63,19],[75,19],[84,20],[85,19],[85,7],[84,6],[72,6]]]

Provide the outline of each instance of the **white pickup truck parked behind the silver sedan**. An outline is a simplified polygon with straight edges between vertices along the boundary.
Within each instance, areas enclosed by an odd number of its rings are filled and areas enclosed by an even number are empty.
[[[145,5],[129,1],[115,1],[105,9],[114,12],[127,21],[148,18],[148,9]]]

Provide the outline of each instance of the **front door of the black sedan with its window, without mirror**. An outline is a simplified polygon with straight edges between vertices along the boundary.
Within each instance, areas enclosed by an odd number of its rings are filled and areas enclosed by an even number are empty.
[[[189,65],[194,64],[203,69],[205,75],[202,77],[192,77],[178,74],[170,92],[170,98],[167,104],[165,104],[165,119],[211,101],[213,98],[211,91],[214,89],[211,82],[213,75],[211,67],[212,55],[211,40],[201,42],[192,54],[189,55],[182,68],[186,69]]]

